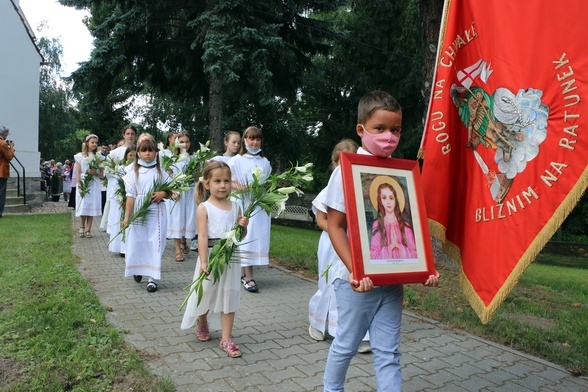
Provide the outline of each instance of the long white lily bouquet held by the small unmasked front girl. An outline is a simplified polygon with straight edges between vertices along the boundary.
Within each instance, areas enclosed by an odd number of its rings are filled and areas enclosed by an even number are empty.
[[[274,208],[277,208],[279,213],[284,211],[286,207],[286,200],[288,195],[296,192],[302,194],[301,186],[310,183],[313,180],[310,168],[312,163],[307,163],[304,166],[295,166],[282,174],[270,174],[263,178],[261,169],[255,167],[252,173],[253,181],[248,184],[246,190],[234,191],[231,196],[241,200],[242,204],[247,206],[244,208],[243,216],[251,218],[255,213],[257,207],[265,211],[268,215]],[[198,298],[197,304],[200,305],[203,295],[203,283],[209,280],[212,276],[213,283],[217,282],[225,269],[231,262],[233,253],[240,241],[243,239],[244,228],[237,223],[233,228],[224,233],[219,241],[214,244],[208,255],[207,271],[209,274],[201,272],[200,275],[189,285],[188,295],[180,306],[180,310],[186,305],[188,299],[195,293]]]

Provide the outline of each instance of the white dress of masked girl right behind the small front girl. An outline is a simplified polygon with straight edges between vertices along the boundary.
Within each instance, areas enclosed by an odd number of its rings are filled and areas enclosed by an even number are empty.
[[[268,176],[272,172],[272,167],[267,158],[259,155],[236,155],[229,161],[229,166],[232,181],[238,184],[252,182],[252,173],[256,166],[261,169],[263,176]],[[243,211],[247,206],[248,200],[245,199],[242,207]],[[261,207],[257,207],[253,212],[253,216],[249,217],[247,236],[243,238],[243,245],[239,248],[242,267],[269,264],[270,230],[271,217]]]

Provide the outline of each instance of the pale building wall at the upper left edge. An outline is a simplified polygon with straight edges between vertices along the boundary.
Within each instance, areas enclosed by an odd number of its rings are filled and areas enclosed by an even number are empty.
[[[27,178],[39,178],[39,75],[43,58],[18,0],[0,0],[0,125],[10,129]],[[22,20],[21,20],[22,18]],[[31,31],[32,34],[32,31]],[[17,167],[16,160],[13,164]],[[20,167],[19,167],[19,170]],[[11,172],[11,177],[16,173]]]

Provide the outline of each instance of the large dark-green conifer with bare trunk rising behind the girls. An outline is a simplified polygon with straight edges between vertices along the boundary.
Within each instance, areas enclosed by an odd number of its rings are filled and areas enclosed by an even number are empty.
[[[181,104],[203,102],[217,149],[222,147],[224,98],[234,101],[240,94],[249,105],[264,107],[274,105],[276,97],[294,97],[310,66],[308,55],[327,49],[321,42],[327,23],[309,17],[310,11],[338,3],[60,2],[92,14],[88,26],[95,50],[73,74],[84,100],[105,113],[146,89]]]

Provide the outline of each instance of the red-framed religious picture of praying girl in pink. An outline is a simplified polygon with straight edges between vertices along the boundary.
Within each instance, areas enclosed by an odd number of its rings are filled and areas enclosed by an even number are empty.
[[[417,161],[341,153],[353,276],[377,286],[435,273]]]

